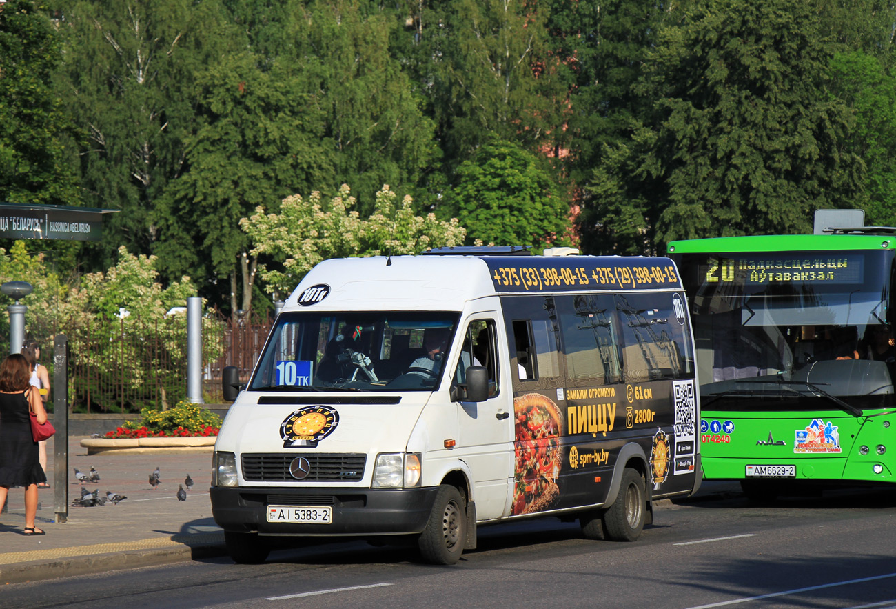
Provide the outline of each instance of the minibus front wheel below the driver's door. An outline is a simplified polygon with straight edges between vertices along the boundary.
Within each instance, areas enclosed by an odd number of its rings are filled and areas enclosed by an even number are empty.
[[[430,564],[455,564],[467,540],[467,503],[451,484],[435,493],[426,528],[418,538],[420,555]]]

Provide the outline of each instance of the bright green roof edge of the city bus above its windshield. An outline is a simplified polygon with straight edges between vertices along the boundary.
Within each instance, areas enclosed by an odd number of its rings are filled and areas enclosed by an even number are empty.
[[[707,254],[892,248],[896,248],[896,236],[894,235],[756,235],[672,241],[668,244],[668,253]]]

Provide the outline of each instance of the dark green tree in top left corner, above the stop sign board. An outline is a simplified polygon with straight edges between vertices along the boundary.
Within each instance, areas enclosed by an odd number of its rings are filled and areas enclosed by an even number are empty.
[[[81,200],[65,148],[73,124],[52,86],[60,59],[43,6],[31,0],[0,4],[0,202]]]

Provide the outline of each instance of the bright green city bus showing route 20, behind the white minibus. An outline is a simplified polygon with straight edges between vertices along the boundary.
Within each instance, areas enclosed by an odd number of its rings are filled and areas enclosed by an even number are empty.
[[[896,482],[896,229],[681,240],[668,253],[694,324],[704,478],[764,500]]]

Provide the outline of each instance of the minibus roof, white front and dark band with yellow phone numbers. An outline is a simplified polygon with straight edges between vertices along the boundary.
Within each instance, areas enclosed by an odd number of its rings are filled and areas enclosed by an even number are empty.
[[[460,311],[469,300],[503,294],[680,289],[667,257],[334,258],[306,274],[284,310]]]

